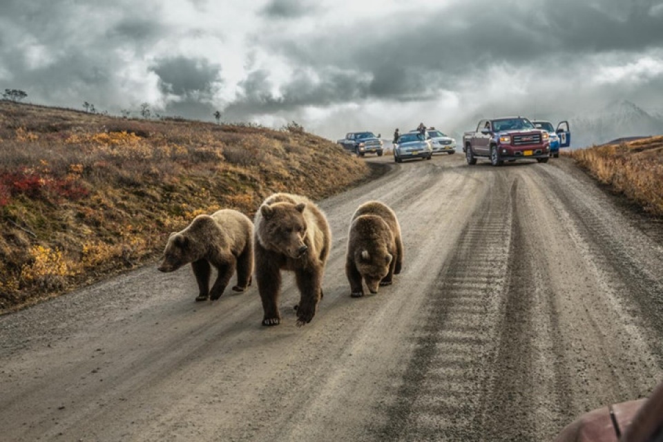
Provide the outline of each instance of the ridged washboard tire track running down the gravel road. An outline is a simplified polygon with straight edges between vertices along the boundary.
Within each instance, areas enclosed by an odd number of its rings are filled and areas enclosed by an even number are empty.
[[[414,356],[382,440],[482,440],[487,363],[494,353],[511,242],[516,184],[492,175],[479,204],[436,278],[413,337]],[[427,304],[427,305],[426,305]]]

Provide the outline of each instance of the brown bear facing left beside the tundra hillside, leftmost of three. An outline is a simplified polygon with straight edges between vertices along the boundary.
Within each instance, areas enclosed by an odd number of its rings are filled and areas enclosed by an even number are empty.
[[[189,227],[171,233],[160,271],[175,271],[191,262],[198,281],[197,301],[217,300],[226,289],[237,269],[234,291],[244,291],[251,285],[253,273],[253,223],[251,219],[232,209],[222,209],[212,215],[196,216]],[[209,289],[211,267],[218,275]]]

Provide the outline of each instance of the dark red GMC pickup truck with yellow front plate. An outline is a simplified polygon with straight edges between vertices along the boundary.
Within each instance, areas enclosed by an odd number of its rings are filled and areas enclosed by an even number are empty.
[[[523,117],[482,119],[477,131],[463,135],[463,152],[468,164],[486,157],[493,166],[505,161],[536,158],[540,163],[550,157],[550,135]]]

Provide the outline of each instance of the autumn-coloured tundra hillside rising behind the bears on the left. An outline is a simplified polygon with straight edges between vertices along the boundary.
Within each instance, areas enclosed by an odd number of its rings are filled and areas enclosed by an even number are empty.
[[[280,131],[0,102],[0,313],[154,260],[195,215],[252,216],[278,191],[324,198],[369,175]]]

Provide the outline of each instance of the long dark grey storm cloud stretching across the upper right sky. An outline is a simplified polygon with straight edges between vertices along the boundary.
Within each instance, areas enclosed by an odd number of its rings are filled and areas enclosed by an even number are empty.
[[[256,38],[294,66],[318,72],[336,66],[364,74],[358,77],[371,78],[369,99],[431,99],[494,66],[549,72],[573,68],[601,52],[661,47],[663,19],[650,13],[655,4],[472,1],[383,22],[363,17],[329,30],[333,32],[316,29],[297,39],[269,33]],[[299,81],[292,79],[292,87],[285,89],[294,89]],[[340,86],[337,93],[330,91],[334,86]],[[345,84],[319,84],[304,90],[309,99],[298,101],[325,104],[320,101],[324,97],[327,103],[340,103],[347,99],[346,89]]]

